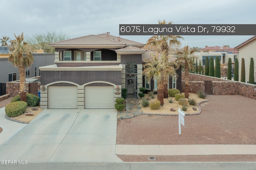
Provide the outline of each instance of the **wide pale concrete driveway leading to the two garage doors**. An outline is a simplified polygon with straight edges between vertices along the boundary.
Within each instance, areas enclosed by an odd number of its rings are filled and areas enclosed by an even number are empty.
[[[115,155],[116,110],[43,110],[0,147],[0,160],[122,162]]]

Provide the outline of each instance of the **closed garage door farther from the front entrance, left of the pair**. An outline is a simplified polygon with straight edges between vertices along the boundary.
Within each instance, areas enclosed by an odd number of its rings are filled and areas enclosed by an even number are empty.
[[[77,109],[77,87],[49,86],[48,109]]]

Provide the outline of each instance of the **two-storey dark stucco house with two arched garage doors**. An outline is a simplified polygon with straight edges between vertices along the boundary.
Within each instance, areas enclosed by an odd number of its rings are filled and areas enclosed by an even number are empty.
[[[56,51],[55,64],[40,67],[45,89],[41,108],[113,109],[121,88],[134,97],[140,87],[153,91],[154,81],[147,85],[142,76],[143,58],[149,56],[144,45],[109,32],[50,43]],[[172,87],[175,83],[170,81]]]

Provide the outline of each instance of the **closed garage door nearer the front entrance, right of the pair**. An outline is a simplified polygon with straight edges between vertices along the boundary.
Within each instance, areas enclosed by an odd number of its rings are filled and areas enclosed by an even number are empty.
[[[85,86],[85,109],[114,109],[114,86]]]

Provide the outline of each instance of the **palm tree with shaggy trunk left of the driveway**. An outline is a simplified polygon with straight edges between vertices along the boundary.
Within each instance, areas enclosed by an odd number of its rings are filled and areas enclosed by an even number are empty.
[[[28,43],[24,42],[23,32],[21,35],[16,36],[14,34],[16,40],[12,41],[12,46],[14,50],[12,54],[8,58],[8,61],[12,63],[14,67],[19,69],[20,73],[20,100],[26,102],[26,79],[25,72],[26,67],[30,67],[30,65],[34,61],[34,57],[32,53],[28,51],[27,45]]]

